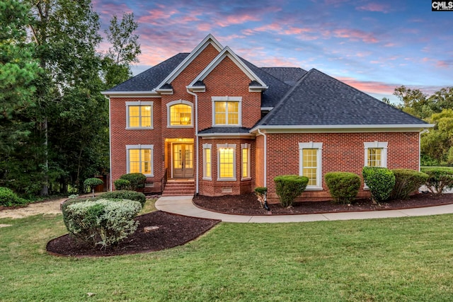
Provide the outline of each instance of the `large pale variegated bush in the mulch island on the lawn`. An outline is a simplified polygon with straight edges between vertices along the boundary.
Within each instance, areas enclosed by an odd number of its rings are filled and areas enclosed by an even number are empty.
[[[63,207],[69,233],[93,247],[109,248],[137,230],[139,202],[108,200],[73,202]]]

